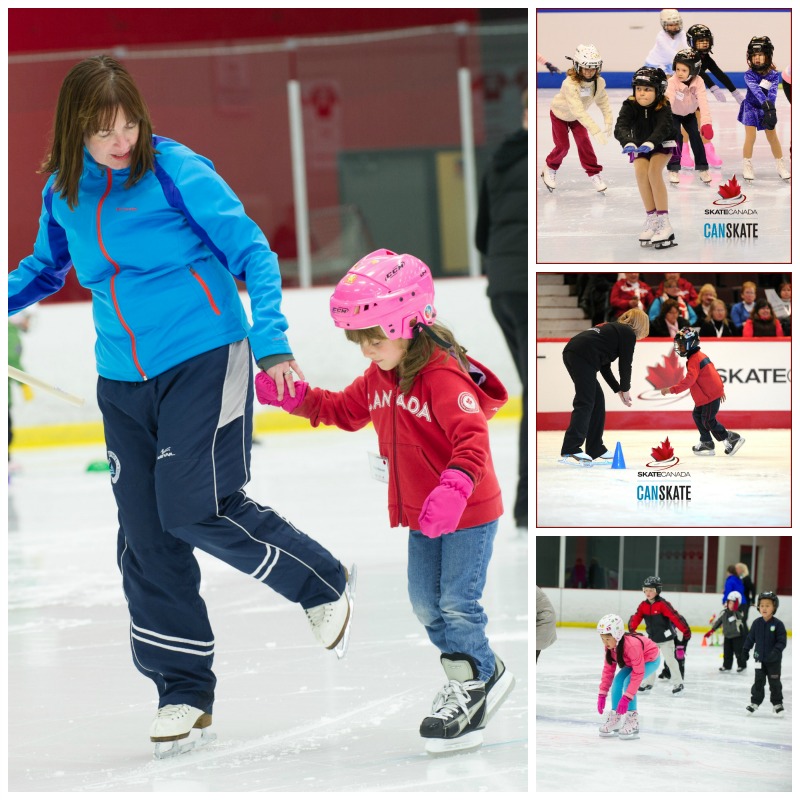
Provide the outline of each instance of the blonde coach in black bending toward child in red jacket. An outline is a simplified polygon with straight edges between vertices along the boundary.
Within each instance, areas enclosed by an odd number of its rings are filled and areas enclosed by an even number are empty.
[[[603,444],[606,402],[599,372],[626,406],[630,406],[633,350],[639,339],[650,332],[650,320],[644,311],[631,308],[614,322],[606,322],[573,336],[564,348],[564,366],[575,384],[572,416],[564,434],[561,456],[572,463],[591,466],[596,458],[611,459]],[[619,381],[611,372],[611,363],[619,359]],[[586,452],[582,451],[586,442]]]

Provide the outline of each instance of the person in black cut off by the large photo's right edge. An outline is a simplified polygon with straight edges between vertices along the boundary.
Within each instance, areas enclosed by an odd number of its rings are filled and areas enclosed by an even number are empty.
[[[475,246],[484,256],[486,293],[522,382],[518,528],[528,527],[528,93],[522,127],[497,149],[481,183]]]

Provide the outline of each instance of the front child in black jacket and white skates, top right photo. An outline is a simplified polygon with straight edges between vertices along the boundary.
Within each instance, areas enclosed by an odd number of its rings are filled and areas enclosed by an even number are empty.
[[[675,150],[675,125],[664,96],[667,76],[659,67],[641,67],[631,80],[633,95],[620,108],[614,138],[630,155],[636,184],[647,212],[639,244],[657,249],[675,245],[669,223],[664,169]]]

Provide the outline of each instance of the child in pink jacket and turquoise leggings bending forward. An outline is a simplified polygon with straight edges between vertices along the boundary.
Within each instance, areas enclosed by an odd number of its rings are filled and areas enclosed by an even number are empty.
[[[603,640],[606,662],[603,665],[600,693],[597,696],[598,714],[603,713],[608,690],[611,689],[611,711],[600,726],[600,735],[638,739],[639,715],[636,711],[636,692],[642,680],[658,669],[661,652],[655,642],[641,634],[625,633],[622,617],[616,614],[606,614],[597,623],[597,631]],[[615,677],[617,666],[621,669]]]

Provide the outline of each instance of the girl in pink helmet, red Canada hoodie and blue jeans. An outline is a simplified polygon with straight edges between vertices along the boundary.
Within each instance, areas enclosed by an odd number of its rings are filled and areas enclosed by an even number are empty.
[[[376,250],[339,281],[334,324],[370,361],[340,392],[256,379],[261,403],[316,427],[355,431],[372,422],[388,484],[392,527],[408,526],[411,605],[441,651],[447,683],[420,726],[428,752],[477,747],[481,729],[514,686],[486,637],[480,605],[503,512],[487,421],[507,392],[436,322],[433,279],[412,255]]]

